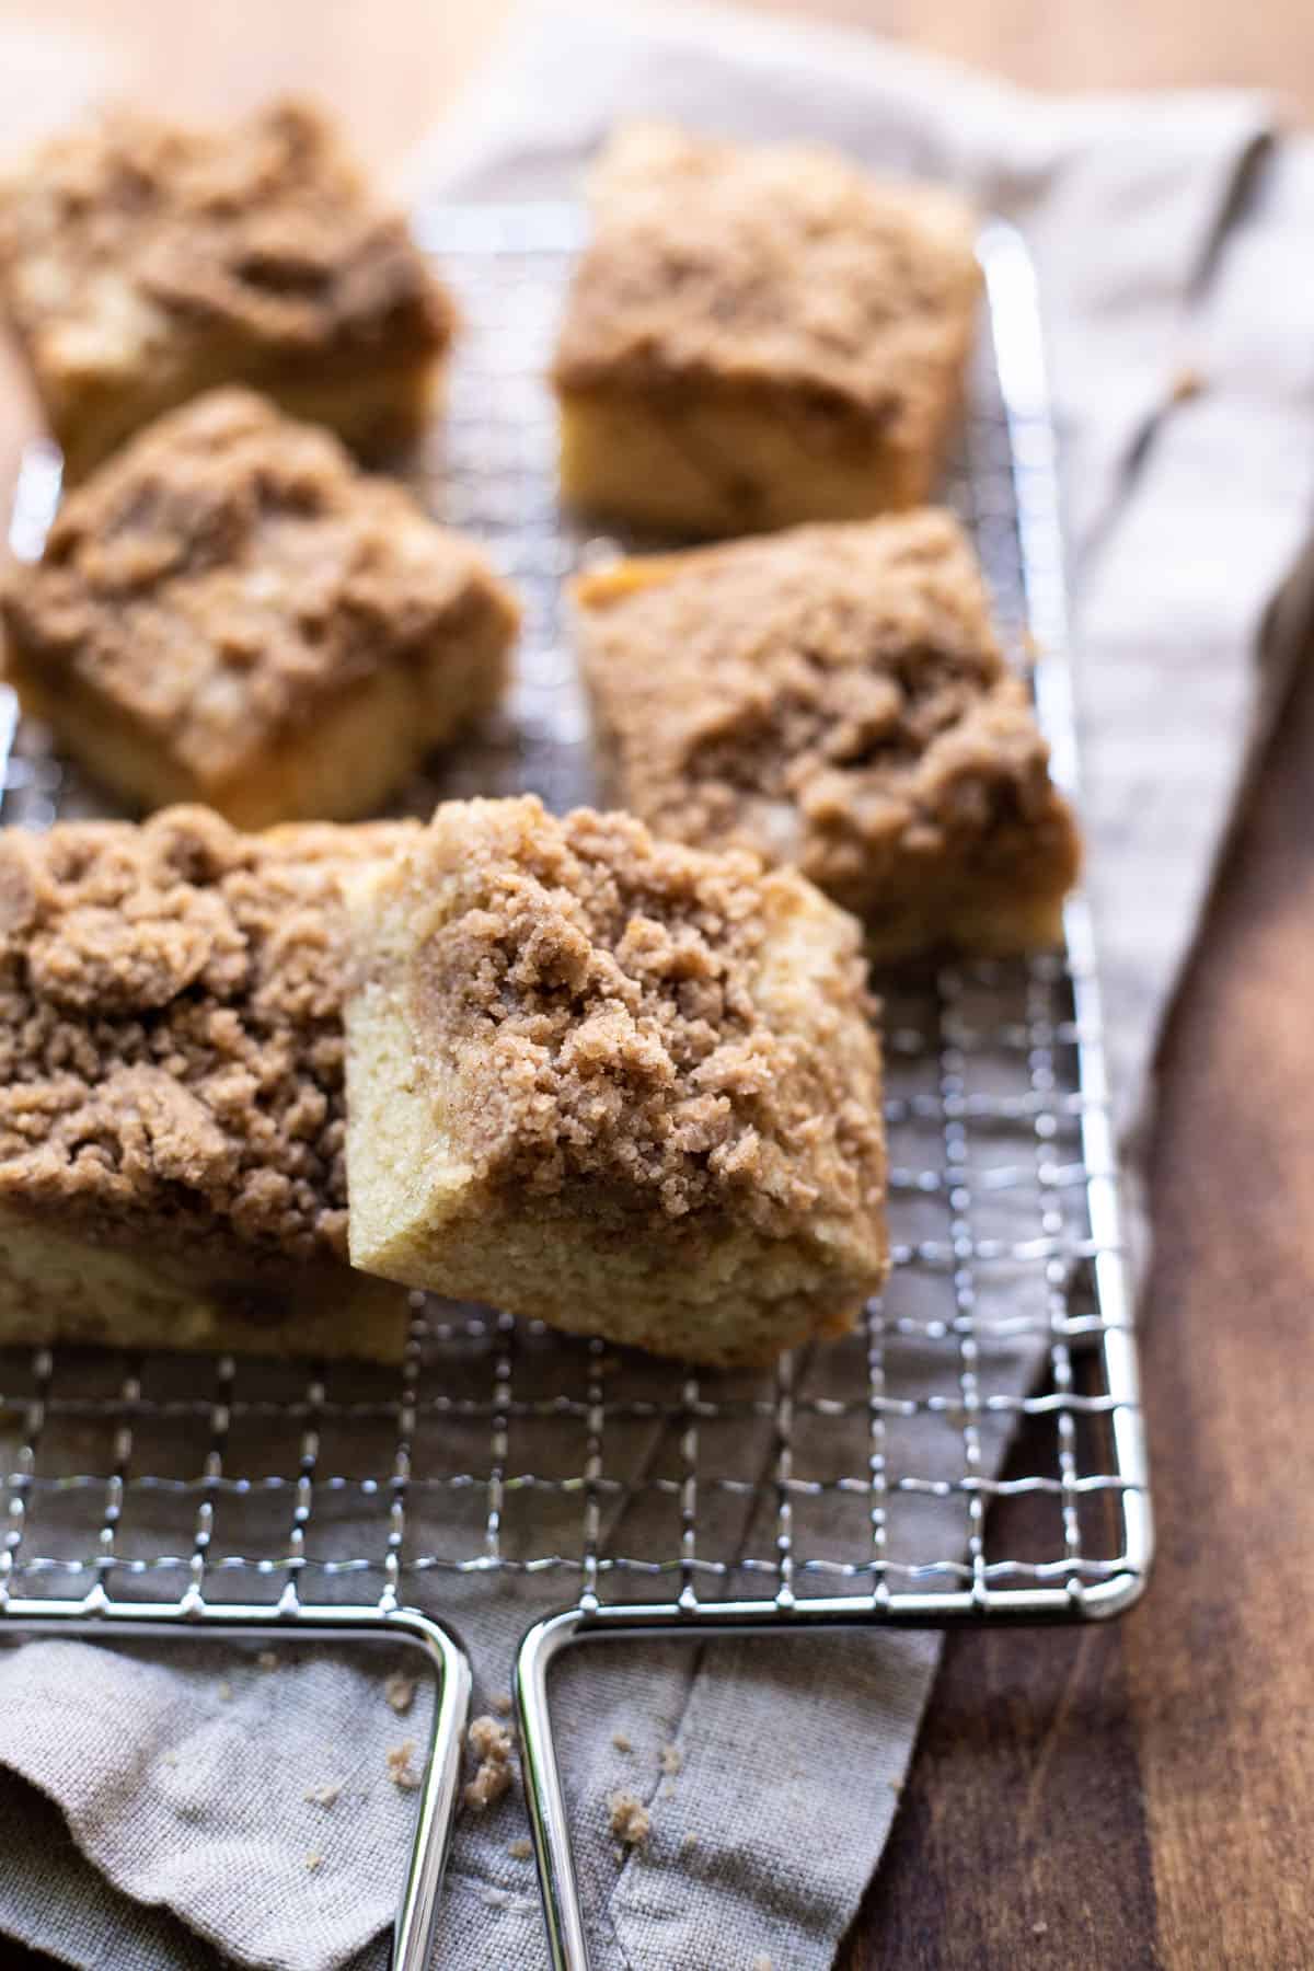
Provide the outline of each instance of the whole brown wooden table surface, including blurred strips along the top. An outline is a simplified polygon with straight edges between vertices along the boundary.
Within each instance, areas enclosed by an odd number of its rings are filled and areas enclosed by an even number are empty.
[[[8,85],[0,63],[0,114],[16,75],[20,120],[45,120],[85,87],[209,116],[296,85],[335,102],[386,166],[441,114],[506,12],[504,0],[45,0],[37,26],[28,0],[0,0],[0,49],[22,53]],[[1314,114],[1308,0],[810,12],[1038,87],[1263,83]],[[2,376],[4,483],[28,418]],[[1312,771],[1314,676],[1233,846],[1162,1056],[1145,1336],[1152,1591],[1107,1630],[950,1638],[845,1971],[1314,1963]],[[1032,1502],[1003,1510],[1020,1541]]]

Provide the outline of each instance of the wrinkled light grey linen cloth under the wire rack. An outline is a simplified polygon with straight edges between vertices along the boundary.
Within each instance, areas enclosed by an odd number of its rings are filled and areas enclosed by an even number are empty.
[[[1314,152],[1277,148],[1255,97],[1038,99],[857,35],[571,0],[516,20],[467,110],[424,148],[412,191],[559,195],[630,114],[823,138],[955,179],[1030,238],[1064,445],[1089,877],[1135,1173],[1164,1011],[1308,627],[1308,583],[1282,581],[1314,503]],[[1018,1350],[1013,1386],[1032,1368]],[[459,1439],[459,1419],[451,1429]],[[652,1447],[640,1427],[617,1447],[623,1480]],[[999,1431],[983,1468],[1003,1449]],[[457,1500],[435,1492],[414,1510],[437,1529]],[[942,1524],[961,1539],[961,1502]],[[335,1537],[353,1537],[349,1502]],[[561,1598],[524,1575],[426,1575],[414,1593],[465,1632],[485,1699],[504,1687],[518,1632]],[[881,1857],[936,1656],[934,1636],[877,1634],[821,1652],[567,1660],[554,1709],[597,1965],[827,1965]],[[400,1738],[424,1742],[429,1703],[420,1691],[392,1715],[384,1667],[296,1644],[278,1669],[195,1646],[12,1652],[0,1930],[116,1971],[217,1953],[380,1967],[410,1819],[410,1798],[380,1776]],[[654,1809],[646,1855],[624,1863],[599,1807],[621,1784]],[[331,1807],[325,1786],[341,1786]],[[449,1971],[546,1963],[524,1833],[518,1796],[461,1821],[435,1959]]]

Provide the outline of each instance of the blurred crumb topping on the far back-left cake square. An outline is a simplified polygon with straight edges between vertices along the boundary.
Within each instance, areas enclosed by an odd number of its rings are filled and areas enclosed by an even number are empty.
[[[453,309],[333,124],[280,101],[225,130],[116,110],[45,144],[0,193],[18,331],[69,374],[240,337],[292,365],[437,351]]]

